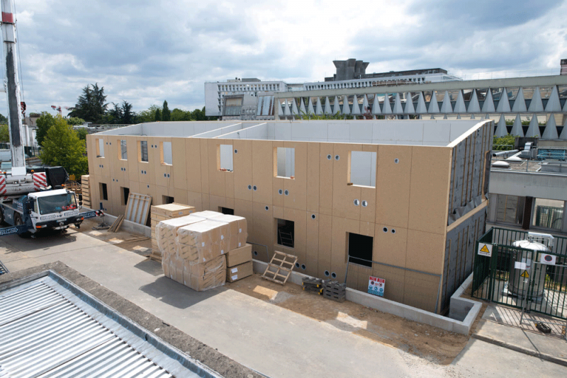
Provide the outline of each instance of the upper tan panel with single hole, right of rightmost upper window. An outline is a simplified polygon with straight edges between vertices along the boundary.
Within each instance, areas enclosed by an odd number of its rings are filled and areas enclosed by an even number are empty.
[[[386,144],[378,147],[376,224],[408,228],[412,148]]]

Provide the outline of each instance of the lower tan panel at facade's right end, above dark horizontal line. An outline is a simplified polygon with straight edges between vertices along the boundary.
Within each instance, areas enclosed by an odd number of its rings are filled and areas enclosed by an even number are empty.
[[[408,229],[405,267],[427,273],[442,274],[445,235]]]

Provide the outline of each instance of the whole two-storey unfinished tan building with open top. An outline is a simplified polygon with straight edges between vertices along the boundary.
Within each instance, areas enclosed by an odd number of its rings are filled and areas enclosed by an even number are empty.
[[[489,120],[156,122],[87,136],[91,201],[128,193],[247,218],[254,258],[442,312],[471,273]],[[264,247],[265,246],[265,247]]]

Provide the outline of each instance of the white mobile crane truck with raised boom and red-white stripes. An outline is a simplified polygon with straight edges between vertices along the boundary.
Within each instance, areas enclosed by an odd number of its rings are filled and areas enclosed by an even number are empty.
[[[82,197],[62,189],[67,172],[62,167],[42,168],[35,172],[26,168],[23,149],[23,127],[20,109],[20,85],[16,53],[16,16],[13,0],[0,0],[2,40],[6,75],[4,86],[8,99],[11,171],[0,172],[0,221],[11,227],[0,228],[0,236],[26,236],[44,229],[67,229],[71,224],[80,227],[84,219],[102,212],[80,213]],[[1,223],[1,222],[0,222]]]

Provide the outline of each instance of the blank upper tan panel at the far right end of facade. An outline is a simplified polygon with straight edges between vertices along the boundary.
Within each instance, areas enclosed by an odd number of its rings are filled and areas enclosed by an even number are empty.
[[[412,147],[408,229],[445,233],[450,174],[450,148]]]

